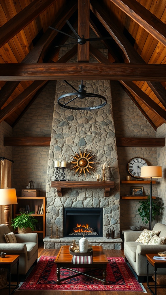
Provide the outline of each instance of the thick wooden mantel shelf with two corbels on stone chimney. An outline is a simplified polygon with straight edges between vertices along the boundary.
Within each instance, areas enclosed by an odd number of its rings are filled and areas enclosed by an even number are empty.
[[[108,197],[110,188],[114,188],[114,181],[51,181],[51,187],[57,189],[58,197],[62,197],[62,188],[105,189],[104,196]]]

